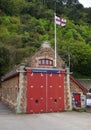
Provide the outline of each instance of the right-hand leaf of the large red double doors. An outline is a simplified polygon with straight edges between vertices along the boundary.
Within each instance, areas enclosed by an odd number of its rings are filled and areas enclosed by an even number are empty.
[[[62,74],[48,74],[48,109],[47,111],[64,110],[64,78]]]

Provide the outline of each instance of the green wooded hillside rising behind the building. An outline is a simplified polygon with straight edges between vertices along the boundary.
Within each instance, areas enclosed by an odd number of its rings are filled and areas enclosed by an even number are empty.
[[[65,27],[57,25],[58,54],[68,66],[69,50],[73,74],[91,78],[91,8],[78,0],[0,0],[0,76],[43,41],[54,48],[55,10],[67,20]]]

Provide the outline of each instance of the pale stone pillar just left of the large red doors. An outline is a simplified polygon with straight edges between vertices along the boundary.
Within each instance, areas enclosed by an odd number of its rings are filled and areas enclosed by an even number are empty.
[[[20,66],[19,72],[19,91],[16,101],[16,113],[26,112],[26,80],[24,66]]]

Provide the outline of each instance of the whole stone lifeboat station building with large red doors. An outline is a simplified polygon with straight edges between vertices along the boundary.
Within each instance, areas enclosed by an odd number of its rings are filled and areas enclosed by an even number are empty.
[[[2,78],[1,100],[16,113],[46,113],[85,107],[87,89],[44,42],[24,63]]]

